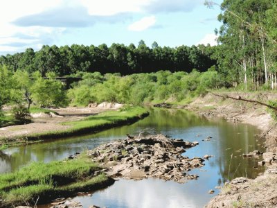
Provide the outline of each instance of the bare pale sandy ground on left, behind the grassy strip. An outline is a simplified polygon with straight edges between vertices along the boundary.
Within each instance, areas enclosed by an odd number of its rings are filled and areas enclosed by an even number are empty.
[[[33,123],[25,125],[12,125],[0,128],[1,138],[24,137],[36,133],[43,133],[55,130],[66,130],[70,125],[61,125],[66,121],[79,121],[86,116],[105,112],[107,110],[115,110],[115,108],[107,107],[66,107],[59,109],[51,109],[57,112],[55,114],[33,114]]]

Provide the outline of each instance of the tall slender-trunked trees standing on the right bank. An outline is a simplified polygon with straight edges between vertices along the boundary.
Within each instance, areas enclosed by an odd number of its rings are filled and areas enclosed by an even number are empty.
[[[226,85],[240,89],[277,89],[277,1],[224,0],[220,45],[212,57]]]

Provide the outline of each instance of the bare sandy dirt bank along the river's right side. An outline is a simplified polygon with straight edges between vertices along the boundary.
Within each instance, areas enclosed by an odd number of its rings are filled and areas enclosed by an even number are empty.
[[[269,100],[277,100],[274,93],[216,93],[221,96],[247,98],[249,100],[267,103]],[[207,94],[197,98],[186,107],[188,110],[197,112],[210,119],[222,117],[230,122],[242,122],[256,125],[265,137],[267,153],[263,155],[267,171],[255,180],[237,178],[225,184],[218,196],[215,196],[207,207],[277,207],[277,126],[276,121],[271,119],[267,107],[256,103],[234,101],[230,98],[222,98],[214,94]],[[276,158],[275,158],[276,157]]]

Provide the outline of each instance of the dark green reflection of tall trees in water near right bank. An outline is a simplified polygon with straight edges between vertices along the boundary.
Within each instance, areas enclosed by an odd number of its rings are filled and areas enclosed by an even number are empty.
[[[259,159],[245,159],[242,153],[249,153],[254,149],[260,149],[254,135],[258,132],[251,125],[241,123],[221,123],[220,128],[220,149],[221,155],[217,157],[217,166],[222,175],[222,181],[232,180],[235,177],[257,177],[263,168],[255,169]],[[260,149],[263,150],[263,149]]]

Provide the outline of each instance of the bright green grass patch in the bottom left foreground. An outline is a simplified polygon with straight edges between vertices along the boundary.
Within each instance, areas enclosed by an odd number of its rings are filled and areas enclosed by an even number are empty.
[[[48,164],[36,162],[15,173],[0,175],[0,207],[49,202],[60,196],[101,189],[114,182],[102,173],[93,176],[99,170],[82,155],[78,159]]]

